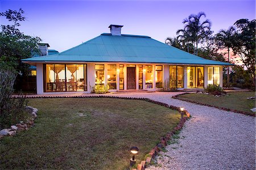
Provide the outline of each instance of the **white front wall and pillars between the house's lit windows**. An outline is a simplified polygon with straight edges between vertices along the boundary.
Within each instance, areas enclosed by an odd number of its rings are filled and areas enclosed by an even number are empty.
[[[86,63],[87,65],[87,91],[85,92],[76,92],[76,93],[90,93],[92,90],[92,87],[95,86],[95,64],[102,64],[102,63]],[[116,90],[110,90],[110,92],[116,92],[119,90],[119,64],[122,63],[111,63],[111,64],[116,64],[117,65],[117,89]],[[130,64],[130,63],[129,63]],[[131,63],[132,64],[132,63]],[[124,68],[124,90],[127,90],[127,73],[126,73],[126,66],[127,64],[123,64]],[[150,91],[155,91],[155,90],[159,90],[156,89],[156,85],[155,85],[155,76],[156,76],[156,72],[155,72],[155,68],[156,65],[163,65],[163,85],[165,82],[169,81],[170,79],[170,65],[168,64],[135,64],[136,65],[136,89],[135,90],[139,90],[139,65],[143,65],[143,90],[150,90]],[[146,89],[146,65],[152,65],[152,69],[153,69],[153,86],[152,89]],[[105,66],[105,85],[108,84],[108,63],[104,63]],[[209,66],[212,67],[212,66]],[[216,66],[215,66],[216,67]],[[218,66],[220,67],[220,86],[222,87],[223,84],[223,67],[222,66]],[[204,87],[206,88],[208,85],[208,66],[205,65],[204,66]],[[44,92],[43,89],[43,64],[42,63],[38,63],[36,64],[36,89],[37,89],[37,93],[38,94],[51,94],[51,93],[72,93],[72,92]],[[179,88],[180,90],[187,89],[187,65],[184,65],[184,88]]]

